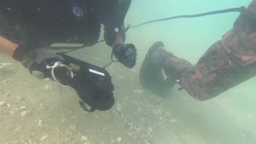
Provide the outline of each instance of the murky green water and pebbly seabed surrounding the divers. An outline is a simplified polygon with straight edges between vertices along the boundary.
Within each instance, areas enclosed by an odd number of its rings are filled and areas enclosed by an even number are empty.
[[[136,25],[168,16],[247,6],[249,2],[132,1],[125,22]],[[232,28],[237,16],[220,14],[130,29],[126,43],[136,45],[137,65],[127,69],[113,63],[107,68],[116,99],[109,111],[84,112],[72,88],[37,80],[20,63],[1,55],[0,101],[4,103],[0,106],[0,143],[255,143],[255,79],[207,101],[196,101],[185,91],[177,91],[178,86],[168,98],[161,99],[143,89],[138,79],[144,56],[156,41],[163,41],[174,55],[196,63]],[[110,62],[110,52],[100,43],[70,55],[102,67]]]

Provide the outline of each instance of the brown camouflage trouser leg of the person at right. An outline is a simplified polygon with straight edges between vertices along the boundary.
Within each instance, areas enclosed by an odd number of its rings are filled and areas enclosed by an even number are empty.
[[[178,84],[196,100],[214,98],[256,75],[256,0],[247,9],[251,13],[237,17],[234,27],[194,65],[193,73],[176,71]],[[172,74],[170,64],[164,70]]]

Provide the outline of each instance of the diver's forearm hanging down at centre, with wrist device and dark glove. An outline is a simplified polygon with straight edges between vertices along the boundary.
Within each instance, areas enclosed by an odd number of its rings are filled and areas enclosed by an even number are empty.
[[[127,68],[133,68],[136,63],[136,48],[133,44],[124,44],[125,32],[124,27],[125,15],[130,7],[131,0],[115,2],[113,5],[112,17],[102,21],[104,25],[104,39],[106,44],[112,47],[112,53],[120,63]],[[117,6],[117,7],[114,7]]]

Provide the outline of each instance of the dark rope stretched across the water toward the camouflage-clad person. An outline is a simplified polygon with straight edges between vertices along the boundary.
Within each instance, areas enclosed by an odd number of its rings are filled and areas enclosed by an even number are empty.
[[[178,16],[171,16],[171,17],[166,17],[166,18],[164,18],[164,19],[157,19],[157,20],[152,20],[152,21],[143,22],[143,23],[141,23],[141,24],[139,24],[139,25],[131,26],[130,28],[139,27],[139,26],[142,26],[142,25],[147,25],[147,24],[149,24],[149,23],[159,22],[159,21],[167,21],[167,20],[180,19],[180,18],[200,17],[200,16],[206,16],[206,15],[215,15],[215,14],[230,13],[230,12],[241,12],[243,9],[245,9],[245,7],[241,7],[241,8],[231,8],[231,9],[224,9],[224,10],[216,10],[216,11],[210,11],[210,12],[207,12],[207,13],[201,13],[201,14],[195,14],[195,15],[178,15]]]

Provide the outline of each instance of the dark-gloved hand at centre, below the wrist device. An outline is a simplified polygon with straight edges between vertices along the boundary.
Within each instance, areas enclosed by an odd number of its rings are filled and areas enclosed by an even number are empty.
[[[137,51],[133,44],[116,44],[113,54],[127,68],[133,68],[136,64]]]

